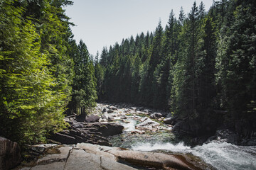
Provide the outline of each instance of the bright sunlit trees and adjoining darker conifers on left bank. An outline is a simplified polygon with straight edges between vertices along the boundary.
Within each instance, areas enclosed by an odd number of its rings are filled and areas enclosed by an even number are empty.
[[[68,0],[0,1],[0,136],[44,142],[65,127],[64,112],[95,105],[92,60],[75,44]],[[74,78],[74,79],[73,79]]]

